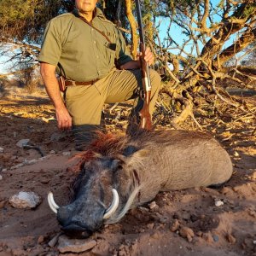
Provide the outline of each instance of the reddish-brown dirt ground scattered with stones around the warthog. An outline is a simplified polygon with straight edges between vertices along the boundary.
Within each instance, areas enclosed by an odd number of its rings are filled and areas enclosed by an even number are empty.
[[[255,98],[252,101],[256,104]],[[0,97],[0,102],[0,256],[76,255],[60,253],[58,243],[49,246],[61,229],[46,200],[51,190],[59,205],[67,204],[73,179],[67,167],[78,154],[73,138],[69,132],[57,130],[54,108],[45,93],[28,95],[14,89]],[[252,119],[234,126],[220,122],[206,127],[233,161],[234,173],[224,188],[160,193],[153,202],[132,209],[119,224],[96,232],[91,236],[96,246],[78,255],[255,256],[256,138]],[[123,131],[123,124],[124,120],[116,125],[107,118],[108,131]],[[34,148],[19,148],[20,139],[30,139]],[[33,191],[42,202],[35,209],[14,208],[9,197],[20,191]],[[217,207],[215,201],[224,204]]]

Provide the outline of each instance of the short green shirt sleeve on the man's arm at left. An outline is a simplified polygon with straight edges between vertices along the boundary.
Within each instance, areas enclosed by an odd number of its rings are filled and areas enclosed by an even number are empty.
[[[61,35],[55,22],[49,21],[44,31],[44,41],[38,61],[57,66],[61,57]]]

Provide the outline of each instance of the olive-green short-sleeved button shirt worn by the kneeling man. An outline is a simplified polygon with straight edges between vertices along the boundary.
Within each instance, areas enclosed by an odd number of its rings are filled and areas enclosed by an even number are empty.
[[[61,74],[78,82],[102,79],[115,67],[115,58],[120,65],[132,61],[123,36],[100,9],[96,8],[91,24],[116,44],[115,50],[109,48],[108,40],[100,32],[67,13],[49,21],[38,60],[55,67],[61,63]],[[60,73],[58,68],[57,72]]]

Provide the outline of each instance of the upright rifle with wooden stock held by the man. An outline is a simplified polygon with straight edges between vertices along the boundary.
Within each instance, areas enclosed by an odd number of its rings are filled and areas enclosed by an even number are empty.
[[[145,55],[145,39],[144,39],[144,32],[143,32],[143,19],[142,19],[142,11],[140,6],[140,0],[135,0],[136,2],[136,9],[137,9],[137,23],[138,23],[138,30],[140,35],[140,52],[143,54],[140,56],[141,61],[141,71],[142,71],[142,78],[143,78],[143,108],[139,112],[140,115],[140,125],[139,127],[145,130],[151,130],[152,128],[152,120],[151,114],[149,113],[149,102],[151,96],[151,83],[149,78],[149,68],[148,63],[144,61]]]

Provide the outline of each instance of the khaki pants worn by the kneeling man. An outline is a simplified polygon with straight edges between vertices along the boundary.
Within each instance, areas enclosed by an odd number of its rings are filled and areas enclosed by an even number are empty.
[[[138,89],[143,87],[141,77],[139,69],[114,69],[95,84],[67,87],[66,106],[74,127],[79,133],[95,130],[101,124],[104,103],[125,102],[134,98],[136,103],[132,114],[138,113],[143,108],[143,100],[138,97]],[[152,114],[160,90],[160,75],[150,70],[150,80],[152,91],[149,112]]]

